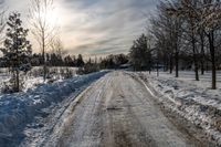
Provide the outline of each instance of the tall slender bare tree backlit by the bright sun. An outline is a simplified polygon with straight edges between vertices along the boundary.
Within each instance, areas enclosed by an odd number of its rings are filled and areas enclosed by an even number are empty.
[[[50,15],[53,14],[53,0],[30,0],[30,23],[32,34],[35,36],[42,51],[44,81],[46,77],[45,52],[50,45],[52,38],[55,36],[56,25],[50,21]]]

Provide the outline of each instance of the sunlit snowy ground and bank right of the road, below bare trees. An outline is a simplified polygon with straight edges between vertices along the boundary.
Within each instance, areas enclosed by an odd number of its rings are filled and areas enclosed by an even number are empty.
[[[148,73],[138,75],[166,107],[204,129],[212,140],[221,145],[220,88],[210,90],[208,78],[197,82],[193,76],[191,80],[190,76],[175,78],[166,73],[159,77]]]

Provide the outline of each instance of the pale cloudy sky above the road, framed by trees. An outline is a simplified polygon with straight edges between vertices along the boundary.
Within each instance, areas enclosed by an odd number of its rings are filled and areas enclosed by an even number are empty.
[[[65,50],[71,54],[127,53],[158,0],[54,0]],[[29,0],[4,0],[10,11],[24,17]],[[35,45],[35,51],[38,46]]]

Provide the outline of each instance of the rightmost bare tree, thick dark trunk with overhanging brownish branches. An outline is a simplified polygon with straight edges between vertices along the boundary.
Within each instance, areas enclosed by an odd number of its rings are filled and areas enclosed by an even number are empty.
[[[217,53],[221,29],[221,2],[219,0],[179,0],[179,7],[171,7],[170,11],[178,17],[191,14],[198,20],[194,28],[203,31],[208,39],[210,61],[212,64],[212,88],[217,88]],[[197,6],[197,7],[196,7]],[[218,35],[219,34],[219,35]]]

